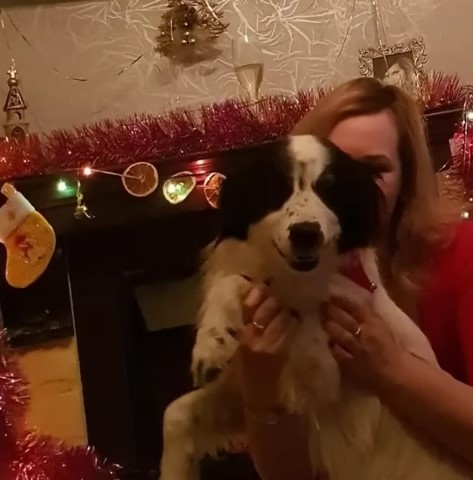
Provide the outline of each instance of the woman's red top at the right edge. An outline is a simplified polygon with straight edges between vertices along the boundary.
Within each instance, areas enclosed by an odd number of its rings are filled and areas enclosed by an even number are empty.
[[[419,306],[419,326],[440,366],[473,386],[473,222],[458,224],[434,259]]]

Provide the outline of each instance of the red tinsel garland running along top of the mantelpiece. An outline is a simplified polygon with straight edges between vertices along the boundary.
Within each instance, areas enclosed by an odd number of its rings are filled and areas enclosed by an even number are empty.
[[[463,87],[455,75],[430,74],[428,90],[426,112],[463,102]],[[137,115],[31,135],[24,144],[2,142],[0,179],[60,173],[85,165],[119,170],[140,160],[195,158],[262,143],[287,134],[323,94],[319,89],[270,96],[255,105],[231,99],[197,110]]]

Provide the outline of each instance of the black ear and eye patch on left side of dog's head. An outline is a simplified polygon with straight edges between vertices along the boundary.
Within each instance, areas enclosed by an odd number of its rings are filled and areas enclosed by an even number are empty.
[[[220,239],[245,240],[249,227],[278,210],[292,193],[287,141],[246,147],[220,155],[226,180],[220,196]]]

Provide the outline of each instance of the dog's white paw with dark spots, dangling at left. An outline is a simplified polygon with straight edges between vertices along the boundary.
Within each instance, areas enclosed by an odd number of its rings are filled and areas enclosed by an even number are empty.
[[[215,381],[230,363],[238,347],[237,330],[227,327],[199,330],[192,352],[194,386],[202,387]]]

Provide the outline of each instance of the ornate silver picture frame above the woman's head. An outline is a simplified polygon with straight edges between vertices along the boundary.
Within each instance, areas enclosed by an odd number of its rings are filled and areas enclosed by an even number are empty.
[[[423,98],[427,55],[422,37],[392,46],[363,48],[359,53],[361,75],[378,78],[388,85],[402,88],[415,98]]]

